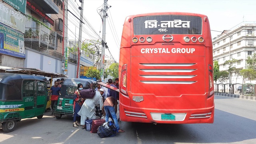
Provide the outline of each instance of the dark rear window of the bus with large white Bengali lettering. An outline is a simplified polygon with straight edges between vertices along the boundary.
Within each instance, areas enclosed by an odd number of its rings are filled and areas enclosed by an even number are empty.
[[[202,18],[197,16],[158,15],[133,19],[134,35],[202,34]]]

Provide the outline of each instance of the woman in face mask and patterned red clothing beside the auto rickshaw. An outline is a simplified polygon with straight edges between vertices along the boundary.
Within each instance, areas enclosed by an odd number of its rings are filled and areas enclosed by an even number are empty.
[[[79,117],[78,112],[81,109],[84,99],[80,96],[80,91],[83,89],[83,85],[80,83],[77,85],[77,90],[74,94],[74,118],[73,118],[73,127],[78,128],[81,124],[78,123],[77,118]]]

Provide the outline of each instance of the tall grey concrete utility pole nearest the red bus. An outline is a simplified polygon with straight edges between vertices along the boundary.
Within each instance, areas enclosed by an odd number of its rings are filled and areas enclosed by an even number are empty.
[[[104,79],[104,59],[105,59],[105,47],[106,47],[106,12],[107,12],[107,2],[108,0],[104,0],[104,9],[103,9],[103,24],[102,24],[102,41],[104,44],[102,44],[101,48],[101,63],[100,63],[100,73],[101,73],[101,79]]]

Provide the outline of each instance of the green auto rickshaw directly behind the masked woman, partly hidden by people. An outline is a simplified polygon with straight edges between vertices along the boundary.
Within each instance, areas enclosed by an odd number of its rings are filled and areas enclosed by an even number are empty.
[[[60,119],[62,115],[73,116],[74,93],[77,90],[77,85],[81,83],[83,89],[96,88],[94,80],[84,78],[70,78],[63,81],[58,97],[57,106],[54,106],[54,116]]]

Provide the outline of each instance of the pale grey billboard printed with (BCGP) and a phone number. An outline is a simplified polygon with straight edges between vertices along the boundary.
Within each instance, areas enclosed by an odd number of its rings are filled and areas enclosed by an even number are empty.
[[[20,32],[25,32],[26,17],[0,2],[0,22]]]

